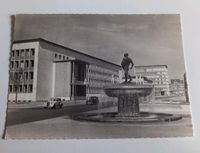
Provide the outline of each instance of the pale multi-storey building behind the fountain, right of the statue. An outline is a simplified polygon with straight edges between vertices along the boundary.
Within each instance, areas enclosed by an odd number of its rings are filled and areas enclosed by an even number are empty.
[[[155,96],[169,96],[167,65],[135,66],[135,75],[145,76],[153,81]]]

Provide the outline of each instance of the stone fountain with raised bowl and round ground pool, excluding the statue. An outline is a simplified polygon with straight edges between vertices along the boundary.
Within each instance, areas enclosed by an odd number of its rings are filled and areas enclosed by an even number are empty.
[[[137,78],[137,76],[135,76]],[[141,76],[140,76],[141,77]],[[81,113],[72,118],[77,120],[95,122],[120,122],[120,123],[145,123],[175,121],[182,118],[180,115],[141,112],[139,101],[141,97],[150,95],[153,91],[151,80],[141,77],[143,81],[132,81],[129,83],[119,83],[104,88],[104,92],[109,97],[118,98],[118,111],[106,113]]]

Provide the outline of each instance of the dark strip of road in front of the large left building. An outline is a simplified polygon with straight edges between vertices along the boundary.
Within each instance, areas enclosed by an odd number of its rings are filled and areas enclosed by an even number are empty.
[[[72,115],[97,109],[96,105],[78,104],[65,106],[62,109],[44,109],[42,107],[8,109],[6,125],[22,124],[27,122],[39,121],[59,117],[63,115]]]

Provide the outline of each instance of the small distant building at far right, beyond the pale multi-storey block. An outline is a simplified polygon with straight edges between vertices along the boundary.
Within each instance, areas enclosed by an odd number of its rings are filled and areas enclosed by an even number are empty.
[[[181,79],[171,79],[170,96],[184,96],[185,87],[184,81]]]

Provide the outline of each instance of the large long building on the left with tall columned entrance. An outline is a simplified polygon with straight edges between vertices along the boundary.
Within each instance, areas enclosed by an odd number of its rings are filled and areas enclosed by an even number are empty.
[[[85,99],[117,83],[121,67],[44,39],[15,41],[8,100]],[[17,90],[17,91],[16,91]]]

